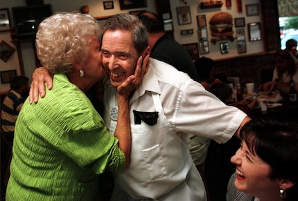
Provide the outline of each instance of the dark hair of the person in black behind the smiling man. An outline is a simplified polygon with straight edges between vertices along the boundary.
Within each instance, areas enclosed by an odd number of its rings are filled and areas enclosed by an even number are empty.
[[[164,23],[154,12],[143,11],[138,14],[139,19],[146,27],[148,33],[164,31]]]

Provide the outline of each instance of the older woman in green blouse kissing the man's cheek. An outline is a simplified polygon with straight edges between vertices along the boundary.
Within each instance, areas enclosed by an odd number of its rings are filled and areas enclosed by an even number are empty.
[[[19,113],[6,200],[100,200],[97,175],[129,166],[129,95],[148,57],[137,59],[137,70],[116,88],[119,117],[111,135],[84,93],[107,75],[100,32],[96,19],[75,12],[40,23],[37,56],[54,86],[38,104],[26,99]]]

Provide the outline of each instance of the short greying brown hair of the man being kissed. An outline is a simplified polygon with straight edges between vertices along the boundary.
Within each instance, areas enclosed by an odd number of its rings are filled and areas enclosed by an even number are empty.
[[[134,48],[139,55],[148,47],[148,32],[143,23],[135,15],[117,14],[107,19],[100,41],[103,41],[103,35],[107,30],[127,30],[132,33]]]

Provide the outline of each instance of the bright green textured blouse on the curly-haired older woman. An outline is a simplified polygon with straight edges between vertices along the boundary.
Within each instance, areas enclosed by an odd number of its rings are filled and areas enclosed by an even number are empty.
[[[6,200],[96,200],[96,174],[123,169],[125,155],[87,96],[64,74],[15,127]]]

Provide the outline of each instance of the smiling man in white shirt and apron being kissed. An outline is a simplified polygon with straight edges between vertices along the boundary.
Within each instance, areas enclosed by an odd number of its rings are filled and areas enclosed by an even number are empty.
[[[150,46],[146,28],[128,14],[107,19],[101,41],[103,66],[109,74],[104,119],[113,133],[118,124],[111,115],[117,106],[116,87],[134,72],[139,55],[150,55]],[[44,81],[40,84],[44,90]],[[238,135],[250,118],[185,73],[151,58],[148,73],[130,98],[130,119],[131,163],[114,173],[112,200],[206,200],[204,183],[191,159],[189,133],[224,143]]]

